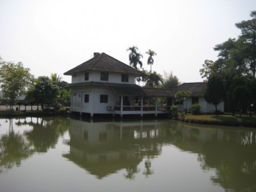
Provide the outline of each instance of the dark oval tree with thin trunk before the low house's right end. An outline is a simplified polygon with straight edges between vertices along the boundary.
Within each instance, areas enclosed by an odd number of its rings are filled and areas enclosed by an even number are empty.
[[[208,103],[215,105],[218,116],[217,105],[225,98],[224,85],[220,77],[211,76],[209,78],[204,98]]]

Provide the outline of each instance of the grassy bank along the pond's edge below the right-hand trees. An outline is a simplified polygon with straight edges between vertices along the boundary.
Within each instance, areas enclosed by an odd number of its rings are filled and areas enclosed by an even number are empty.
[[[256,127],[256,116],[253,115],[251,118],[249,115],[187,115],[184,119],[185,122],[189,123],[201,123],[201,124],[216,124],[223,126],[245,126],[245,127]]]

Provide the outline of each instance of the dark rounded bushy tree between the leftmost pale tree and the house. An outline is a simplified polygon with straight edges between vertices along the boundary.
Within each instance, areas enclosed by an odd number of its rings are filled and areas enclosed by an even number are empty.
[[[31,88],[31,92],[34,101],[40,103],[42,110],[44,110],[44,106],[49,107],[56,102],[58,87],[47,76],[38,77],[35,82],[35,85]]]

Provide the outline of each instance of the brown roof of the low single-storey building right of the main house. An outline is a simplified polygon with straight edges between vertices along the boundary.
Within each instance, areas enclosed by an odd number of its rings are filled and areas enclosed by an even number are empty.
[[[204,96],[207,84],[205,82],[184,83],[176,87],[177,91],[191,91],[191,96]]]

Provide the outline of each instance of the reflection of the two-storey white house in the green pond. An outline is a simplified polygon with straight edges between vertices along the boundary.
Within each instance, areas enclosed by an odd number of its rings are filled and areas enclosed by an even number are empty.
[[[160,136],[157,126],[156,120],[90,123],[71,119],[70,153],[64,156],[97,178],[121,169],[126,169],[125,177],[134,178],[143,158],[147,158],[145,174],[152,174],[150,159],[162,150],[161,143],[152,142]]]

